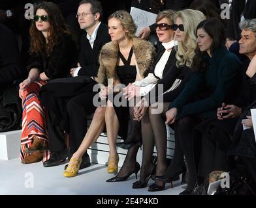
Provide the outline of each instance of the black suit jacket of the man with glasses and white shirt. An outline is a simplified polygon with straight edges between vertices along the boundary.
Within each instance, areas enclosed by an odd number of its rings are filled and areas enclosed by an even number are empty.
[[[101,47],[104,44],[110,42],[110,36],[108,34],[108,26],[103,22],[99,25],[97,31],[96,40],[93,44],[93,49],[89,44],[88,38],[86,38],[87,32],[80,37],[80,52],[78,62],[82,66],[79,70],[78,75],[87,75],[89,77],[97,77],[99,70],[99,54]]]

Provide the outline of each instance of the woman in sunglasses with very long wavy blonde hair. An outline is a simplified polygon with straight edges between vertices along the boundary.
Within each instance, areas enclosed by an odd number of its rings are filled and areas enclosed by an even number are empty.
[[[196,10],[187,9],[177,13],[176,23],[172,25],[172,28],[175,31],[175,38],[178,42],[178,51],[176,52],[174,66],[168,71],[163,79],[159,80],[155,88],[149,93],[150,96],[144,96],[135,107],[135,118],[137,120],[142,120],[142,143],[144,144],[144,149],[140,181],[136,181],[133,184],[133,188],[146,187],[150,175],[153,174],[153,166],[148,161],[150,157],[152,157],[154,144],[157,149],[155,175],[163,175],[167,169],[167,130],[165,125],[165,112],[168,110],[168,105],[180,94],[185,83],[188,81],[189,72],[191,71],[189,68],[191,68],[197,45],[195,28],[203,19],[205,19],[205,17],[202,12]],[[186,70],[187,73],[182,74],[181,72],[184,70]],[[176,83],[176,81],[178,81],[178,83]],[[157,92],[159,87],[163,87],[163,92],[166,93],[158,95]],[[152,101],[152,97],[154,96],[155,101]],[[146,106],[149,105],[150,107],[148,110],[148,107]],[[157,112],[157,109],[161,109],[161,107],[163,110]],[[146,112],[148,113],[146,114]],[[183,155],[178,155],[178,157],[180,159],[178,170],[180,170],[184,165]],[[171,182],[171,180],[168,182]],[[165,182],[155,180],[155,183],[150,185],[148,190],[159,191],[164,190],[164,188]]]

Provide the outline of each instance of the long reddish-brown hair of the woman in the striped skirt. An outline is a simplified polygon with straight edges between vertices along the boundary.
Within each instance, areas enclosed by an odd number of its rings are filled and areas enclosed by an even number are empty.
[[[63,18],[61,11],[56,4],[46,1],[38,3],[35,6],[35,14],[39,8],[45,10],[48,14],[48,21],[50,23],[50,31],[47,38],[48,43],[46,44],[46,40],[42,35],[42,32],[37,29],[35,22],[33,21],[29,29],[29,34],[31,36],[29,51],[30,53],[35,53],[36,55],[39,55],[39,53],[45,51],[49,56],[50,53],[52,53],[54,46],[58,44],[59,34],[61,32],[70,35],[73,40],[76,40],[76,38],[74,37],[73,32],[71,32],[71,29],[69,29],[69,27],[65,24],[65,19]]]

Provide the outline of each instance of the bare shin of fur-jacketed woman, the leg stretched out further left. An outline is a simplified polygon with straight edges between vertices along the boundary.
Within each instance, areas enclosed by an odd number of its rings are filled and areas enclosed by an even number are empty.
[[[84,136],[82,144],[79,146],[77,151],[72,155],[72,158],[80,159],[86,152],[86,150],[99,138],[104,129],[104,117],[105,117],[106,107],[97,107],[95,110],[93,120],[91,125]]]

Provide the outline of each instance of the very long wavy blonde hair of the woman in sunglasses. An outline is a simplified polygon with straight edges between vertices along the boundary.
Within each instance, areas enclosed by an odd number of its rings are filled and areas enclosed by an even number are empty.
[[[190,68],[197,47],[197,25],[206,17],[198,10],[185,9],[178,11],[176,18],[182,19],[184,25],[184,40],[183,42],[178,42],[176,66],[183,67],[185,65]]]

